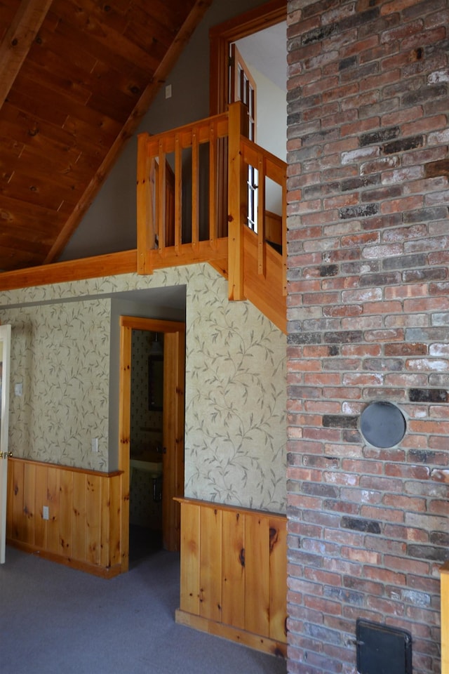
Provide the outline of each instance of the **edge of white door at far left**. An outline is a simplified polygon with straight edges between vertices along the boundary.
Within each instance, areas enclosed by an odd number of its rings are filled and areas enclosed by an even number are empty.
[[[0,564],[6,553],[6,493],[8,490],[8,402],[11,325],[0,326]]]

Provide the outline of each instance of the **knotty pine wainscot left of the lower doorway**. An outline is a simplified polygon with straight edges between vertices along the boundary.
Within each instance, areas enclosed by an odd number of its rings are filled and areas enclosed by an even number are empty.
[[[10,458],[6,541],[98,576],[115,576],[121,571],[120,487],[119,472]]]

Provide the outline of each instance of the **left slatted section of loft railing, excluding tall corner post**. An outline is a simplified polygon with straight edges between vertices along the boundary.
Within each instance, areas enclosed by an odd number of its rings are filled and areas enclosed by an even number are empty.
[[[138,272],[227,256],[219,223],[217,162],[228,135],[227,114],[138,138]],[[202,150],[207,150],[206,157]],[[208,185],[208,227],[200,231],[201,180]],[[189,219],[183,208],[190,183]],[[186,200],[187,200],[186,199]]]

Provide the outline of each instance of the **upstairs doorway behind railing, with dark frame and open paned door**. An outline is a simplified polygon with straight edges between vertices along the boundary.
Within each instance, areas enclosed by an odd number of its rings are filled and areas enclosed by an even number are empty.
[[[210,29],[210,114],[240,100],[248,110],[248,138],[286,161],[287,154],[287,6],[283,0],[239,15]],[[226,148],[217,158],[227,182]],[[282,253],[282,188],[248,166],[247,225],[257,233],[260,209],[265,239]],[[227,227],[227,199],[218,195],[220,222]],[[226,235],[226,234],[223,234]]]

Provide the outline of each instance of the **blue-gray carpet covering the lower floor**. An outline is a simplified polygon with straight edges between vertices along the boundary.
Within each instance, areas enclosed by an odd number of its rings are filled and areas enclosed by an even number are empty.
[[[6,548],[1,674],[285,674],[283,659],[177,625],[179,555],[104,580]]]

